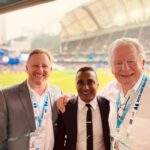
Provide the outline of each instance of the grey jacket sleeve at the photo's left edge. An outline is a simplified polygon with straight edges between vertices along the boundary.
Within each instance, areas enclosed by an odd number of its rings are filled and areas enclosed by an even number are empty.
[[[7,107],[3,92],[0,91],[0,150],[4,150],[7,141]]]

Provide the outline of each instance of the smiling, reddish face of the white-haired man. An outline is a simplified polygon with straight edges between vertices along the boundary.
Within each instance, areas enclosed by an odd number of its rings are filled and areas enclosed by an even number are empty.
[[[122,45],[116,48],[111,59],[112,73],[128,90],[139,80],[144,70],[144,60],[139,59],[133,45]]]

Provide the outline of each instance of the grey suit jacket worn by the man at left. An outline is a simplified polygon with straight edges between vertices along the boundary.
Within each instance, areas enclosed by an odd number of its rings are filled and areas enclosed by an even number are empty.
[[[50,85],[53,123],[57,119],[54,101],[61,90]],[[35,120],[26,81],[0,91],[0,150],[29,150],[29,133]]]

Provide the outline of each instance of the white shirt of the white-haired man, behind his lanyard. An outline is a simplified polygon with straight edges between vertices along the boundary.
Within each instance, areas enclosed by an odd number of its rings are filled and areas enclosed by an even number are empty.
[[[143,76],[143,75],[142,75]],[[121,87],[117,81],[113,81],[106,85],[102,92],[101,96],[110,100],[110,115],[109,123],[111,134],[115,132],[116,120],[117,120],[117,111],[116,111],[116,100],[118,96],[118,91],[120,91],[120,100],[121,103],[125,102],[129,96],[131,99],[134,99],[136,95],[137,88],[141,82],[141,78],[136,83],[136,85],[128,91],[126,95],[123,94]],[[126,97],[126,98],[124,98]],[[135,100],[136,101],[136,100]],[[132,109],[134,102],[132,103],[127,115],[121,124],[120,133],[123,138],[127,135],[127,128],[129,126],[129,118],[131,117]],[[132,130],[130,136],[127,138],[127,142],[130,145],[131,150],[149,150],[150,149],[150,78],[148,77],[147,83],[144,87],[141,103],[137,113],[135,114]]]

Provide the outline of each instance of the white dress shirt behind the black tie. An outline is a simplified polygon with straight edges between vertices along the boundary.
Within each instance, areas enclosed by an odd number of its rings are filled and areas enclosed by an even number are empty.
[[[77,111],[77,150],[86,150],[86,114],[87,107],[85,102],[78,98]],[[104,150],[104,139],[102,130],[102,121],[100,109],[97,99],[94,98],[90,102],[92,106],[92,120],[93,120],[93,150]]]

